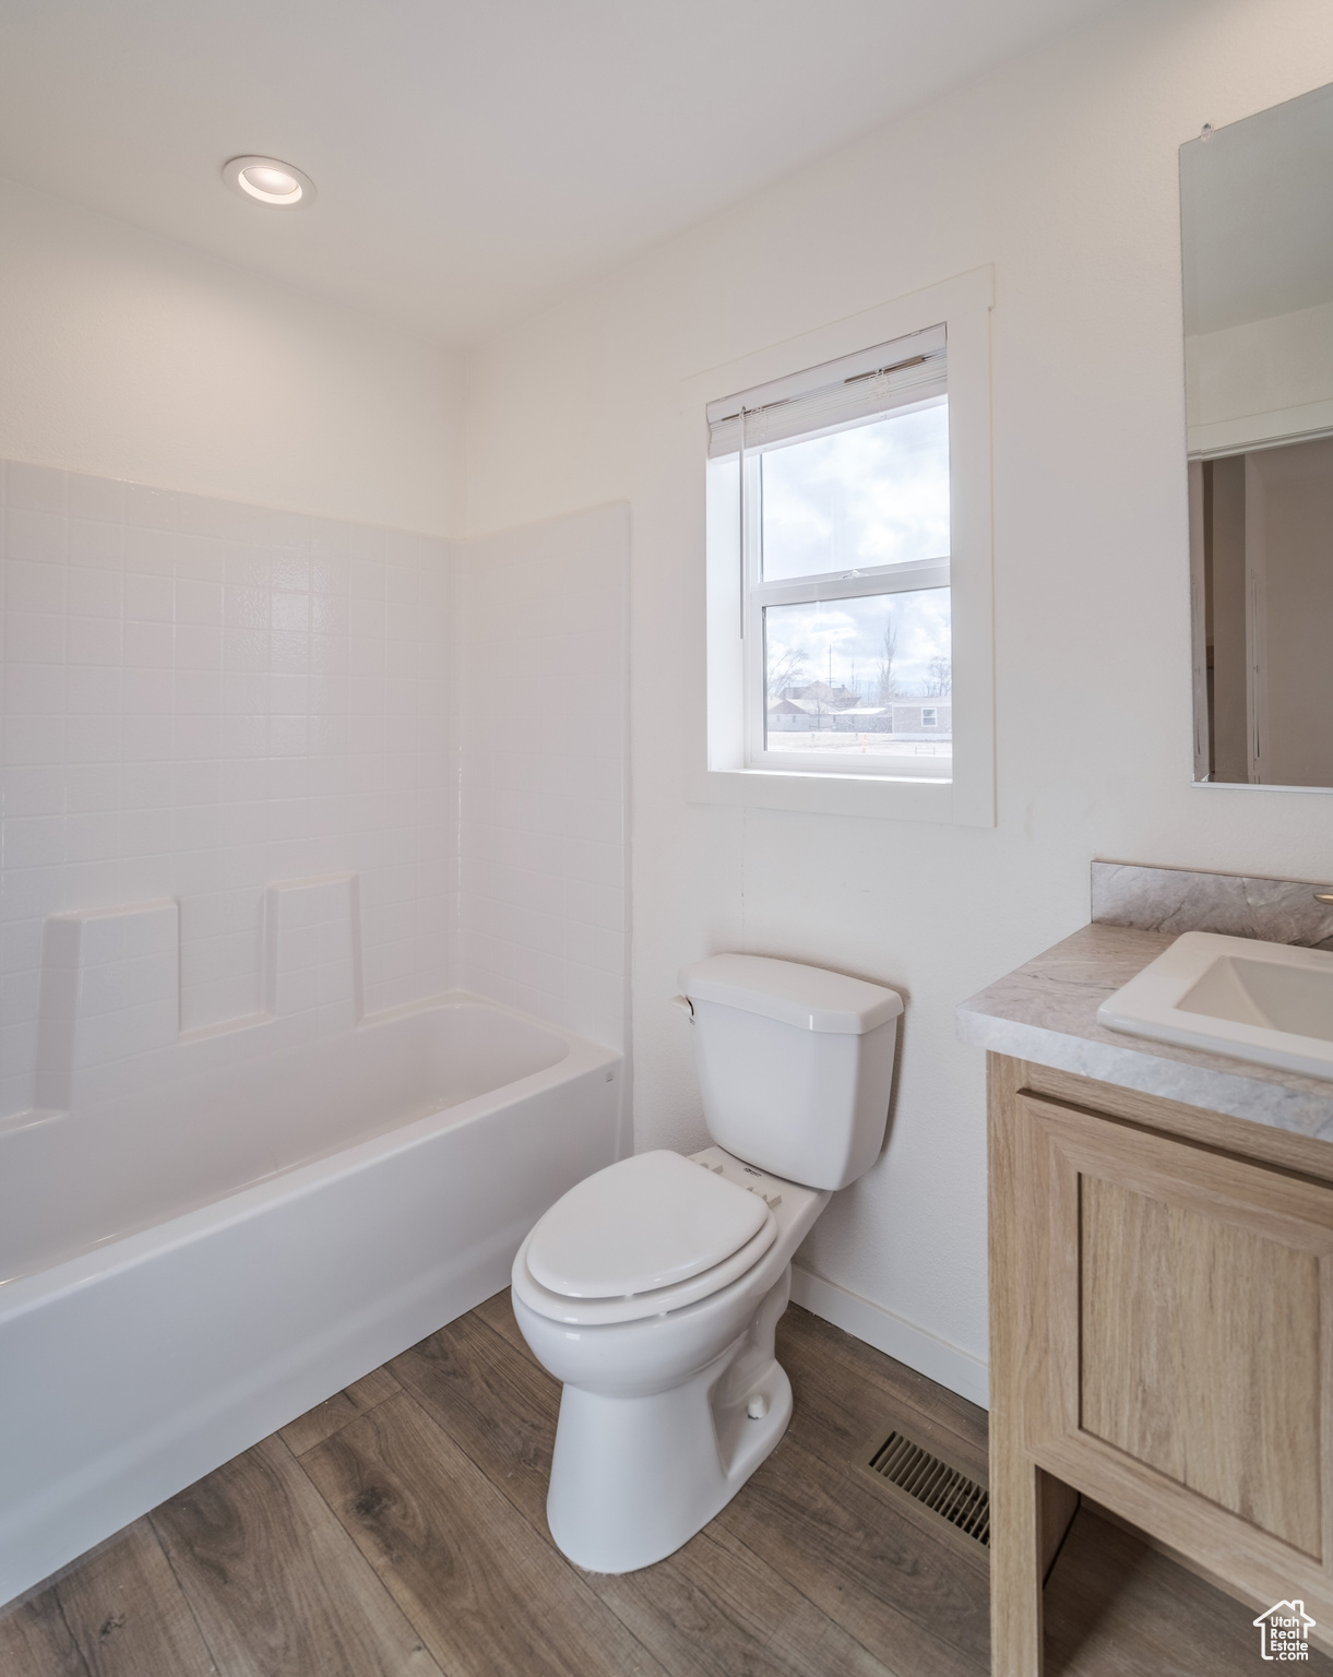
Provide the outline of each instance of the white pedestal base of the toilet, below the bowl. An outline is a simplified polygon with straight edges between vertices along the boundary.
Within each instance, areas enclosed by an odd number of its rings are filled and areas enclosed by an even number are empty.
[[[625,1573],[666,1560],[781,1441],[791,1382],[773,1337],[790,1280],[788,1266],[748,1330],[682,1385],[649,1397],[563,1389],[547,1521],[575,1566]],[[756,1399],[761,1417],[748,1412]]]

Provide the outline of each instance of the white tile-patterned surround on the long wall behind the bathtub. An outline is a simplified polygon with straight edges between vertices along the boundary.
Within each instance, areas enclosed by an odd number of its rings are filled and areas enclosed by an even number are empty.
[[[265,1010],[268,884],[354,872],[366,1010],[446,989],[448,545],[17,463],[0,498],[0,1117],[52,914],[176,899],[193,1031]]]

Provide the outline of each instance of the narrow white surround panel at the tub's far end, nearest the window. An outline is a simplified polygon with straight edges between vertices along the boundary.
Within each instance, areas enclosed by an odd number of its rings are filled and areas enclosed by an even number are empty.
[[[625,1048],[629,508],[456,565],[456,981]]]

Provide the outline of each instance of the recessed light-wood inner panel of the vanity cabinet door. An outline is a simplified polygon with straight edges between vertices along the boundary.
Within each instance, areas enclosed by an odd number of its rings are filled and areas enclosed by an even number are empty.
[[[1080,1430],[1321,1555],[1320,1259],[1080,1172]]]

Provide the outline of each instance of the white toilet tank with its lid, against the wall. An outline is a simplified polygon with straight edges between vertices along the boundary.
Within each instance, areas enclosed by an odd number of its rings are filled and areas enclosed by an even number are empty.
[[[807,1187],[875,1162],[902,996],[820,966],[714,954],[681,968],[709,1135]]]

